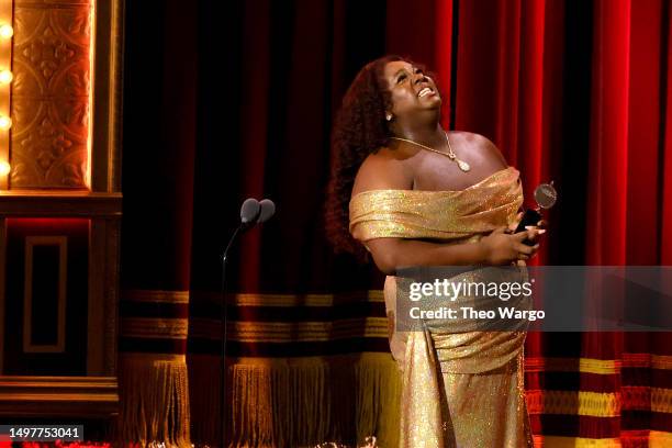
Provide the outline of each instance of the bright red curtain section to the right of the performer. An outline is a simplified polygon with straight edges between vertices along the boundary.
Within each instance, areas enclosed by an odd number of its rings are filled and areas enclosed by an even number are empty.
[[[668,262],[669,2],[463,1],[459,9],[455,127],[492,138],[520,169],[527,198],[540,181],[559,190],[537,262]],[[583,238],[580,226],[563,228],[570,220],[584,223]],[[562,254],[558,242],[584,254]],[[661,404],[670,396],[670,340],[530,334],[536,440],[669,444],[672,419]]]

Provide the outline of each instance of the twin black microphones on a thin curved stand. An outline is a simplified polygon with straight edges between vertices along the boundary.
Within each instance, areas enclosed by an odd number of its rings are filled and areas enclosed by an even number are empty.
[[[257,224],[262,224],[270,220],[276,214],[276,204],[270,199],[262,199],[257,201],[254,198],[248,198],[243,202],[240,206],[240,224],[234,231],[224,253],[222,253],[222,287],[220,291],[221,301],[221,357],[220,357],[220,412],[221,412],[221,444],[220,447],[224,448],[226,443],[226,329],[228,324],[227,313],[227,301],[226,301],[226,261],[228,260],[228,250],[232,248],[234,242],[240,233],[244,233]]]

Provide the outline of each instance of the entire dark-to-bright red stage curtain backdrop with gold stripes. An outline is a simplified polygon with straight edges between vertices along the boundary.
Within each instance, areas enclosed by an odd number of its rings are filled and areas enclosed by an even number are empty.
[[[172,3],[134,2],[127,12],[142,20],[127,21],[122,276],[128,289],[190,289],[194,440],[208,440],[217,425],[216,408],[194,406],[216,402],[208,400],[217,391],[219,255],[246,197],[273,199],[278,214],[246,234],[234,254],[227,290],[244,305],[232,316],[258,335],[271,324],[291,329],[277,340],[239,334],[231,355],[270,366],[387,352],[384,324],[367,326],[384,322],[382,303],[371,300],[381,277],[334,256],[322,222],[334,112],[357,70],[383,54],[410,56],[438,74],[444,123],[492,139],[520,170],[527,205],[539,182],[555,181],[560,199],[547,213],[537,264],[672,264],[669,1],[199,2],[189,7],[198,15],[195,42],[160,37],[184,31],[176,11],[187,7]],[[170,71],[182,52],[198,67]],[[161,202],[146,206],[156,197]],[[138,258],[141,251],[156,264]],[[334,326],[339,320],[369,324],[344,331]],[[335,333],[320,339],[304,332],[309,324]],[[669,443],[670,340],[669,334],[529,334],[526,388],[537,443]],[[275,405],[277,390],[249,384],[267,391],[255,395],[259,408]],[[343,390],[324,405],[331,411],[314,411],[317,419],[356,408]],[[311,434],[360,439],[354,421],[331,432],[325,425]],[[249,430],[255,440],[272,432],[299,437],[293,427]]]

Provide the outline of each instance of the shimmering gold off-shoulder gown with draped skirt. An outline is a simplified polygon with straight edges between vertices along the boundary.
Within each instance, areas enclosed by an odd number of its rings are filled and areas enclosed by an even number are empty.
[[[359,193],[350,201],[350,232],[365,244],[380,237],[477,242],[511,224],[522,203],[519,172],[508,167],[460,191]],[[384,296],[394,312],[394,277]],[[390,347],[403,372],[400,446],[531,447],[524,343],[525,329],[456,333],[445,321],[394,333]]]

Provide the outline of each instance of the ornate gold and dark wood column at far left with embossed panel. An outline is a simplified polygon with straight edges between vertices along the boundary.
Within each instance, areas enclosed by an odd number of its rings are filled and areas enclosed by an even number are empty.
[[[13,1],[0,415],[117,412],[122,21],[123,0]]]

